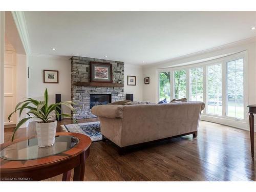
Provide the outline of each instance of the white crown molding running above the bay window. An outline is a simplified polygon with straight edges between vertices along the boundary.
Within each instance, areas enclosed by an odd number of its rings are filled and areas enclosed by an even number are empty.
[[[235,46],[249,44],[249,43],[252,43],[252,42],[255,42],[255,41],[256,41],[256,36],[246,38],[246,39],[242,39],[242,40],[238,40],[238,41],[234,41],[234,42],[230,42],[229,44],[225,44],[225,45],[210,48],[210,49],[205,49],[205,50],[198,51],[198,52],[195,52],[195,53],[190,53],[190,54],[187,54],[187,55],[182,55],[182,56],[179,56],[179,57],[174,57],[174,58],[171,58],[171,59],[167,59],[167,60],[163,60],[163,61],[159,61],[159,62],[154,62],[154,63],[148,64],[148,65],[143,65],[143,67],[151,67],[151,66],[155,66],[155,65],[160,65],[160,64],[164,64],[166,62],[172,62],[172,61],[176,61],[176,60],[179,60],[179,59],[185,59],[185,58],[188,58],[188,57],[193,57],[193,56],[206,54],[206,53],[210,53],[210,52],[214,52],[214,51],[228,49],[228,48],[232,48],[232,47],[235,47]]]

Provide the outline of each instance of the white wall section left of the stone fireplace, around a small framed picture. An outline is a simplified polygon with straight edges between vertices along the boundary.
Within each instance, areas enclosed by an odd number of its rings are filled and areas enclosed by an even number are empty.
[[[44,100],[47,88],[49,103],[55,103],[55,94],[61,94],[61,101],[71,100],[71,63],[67,57],[28,56],[28,96]],[[43,70],[58,70],[59,83],[44,83]],[[62,106],[62,113],[70,110]]]

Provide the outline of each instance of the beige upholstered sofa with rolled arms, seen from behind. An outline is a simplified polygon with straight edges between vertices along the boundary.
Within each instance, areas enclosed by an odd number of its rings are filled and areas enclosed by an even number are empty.
[[[203,102],[97,105],[101,134],[119,147],[193,134],[197,136]]]

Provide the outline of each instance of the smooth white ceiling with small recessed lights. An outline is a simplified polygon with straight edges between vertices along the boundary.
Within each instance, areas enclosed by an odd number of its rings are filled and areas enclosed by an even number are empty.
[[[256,31],[250,29],[256,12],[25,12],[25,19],[32,54],[108,55],[135,65],[222,46]]]

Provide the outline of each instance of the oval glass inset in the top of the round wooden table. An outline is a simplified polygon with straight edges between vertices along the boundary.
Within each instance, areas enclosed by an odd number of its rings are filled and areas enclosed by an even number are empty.
[[[56,136],[53,146],[38,147],[37,138],[11,144],[1,151],[1,158],[6,160],[31,160],[60,154],[73,148],[79,139],[73,136]]]

